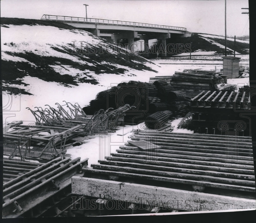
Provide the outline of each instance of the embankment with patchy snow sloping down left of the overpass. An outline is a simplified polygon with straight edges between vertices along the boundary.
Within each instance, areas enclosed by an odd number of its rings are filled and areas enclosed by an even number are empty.
[[[6,20],[6,19],[5,19]],[[8,24],[1,18],[2,79],[30,92],[27,77],[67,87],[99,84],[102,74],[131,75],[154,72],[149,62],[102,38],[77,29],[40,24]],[[5,24],[4,24],[5,22]],[[128,72],[129,71],[129,72]]]

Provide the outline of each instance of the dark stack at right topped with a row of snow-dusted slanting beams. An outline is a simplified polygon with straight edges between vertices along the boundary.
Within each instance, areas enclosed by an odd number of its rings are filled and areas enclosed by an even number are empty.
[[[222,134],[227,130],[249,135],[249,119],[240,113],[250,111],[250,92],[247,88],[238,92],[202,91],[190,101],[192,124],[206,133]],[[227,128],[227,129],[226,129]],[[205,130],[204,130],[205,129]]]

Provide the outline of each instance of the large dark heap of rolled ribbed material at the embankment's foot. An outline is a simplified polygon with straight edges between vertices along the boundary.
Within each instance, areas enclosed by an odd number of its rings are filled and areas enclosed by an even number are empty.
[[[129,103],[136,107],[127,112],[124,117],[125,123],[129,124],[138,124],[138,122],[145,120],[149,121],[152,118],[150,116],[156,112],[159,112],[156,117],[161,117],[161,113],[165,116],[164,111],[170,111],[174,115],[183,115],[189,110],[189,105],[185,103],[185,94],[183,92],[175,91],[174,87],[166,80],[156,79],[153,83],[140,81],[122,82],[108,90],[101,91],[94,100],[90,101],[89,106],[83,108],[83,111],[91,114],[99,108],[116,108],[124,103]],[[142,115],[138,116],[138,114]],[[155,121],[157,122],[157,120]],[[163,123],[161,118],[158,121]],[[166,123],[167,121],[164,122]],[[152,127],[152,125],[150,126]]]

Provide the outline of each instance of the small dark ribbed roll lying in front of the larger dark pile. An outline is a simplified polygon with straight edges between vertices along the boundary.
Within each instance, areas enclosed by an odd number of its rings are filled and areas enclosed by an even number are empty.
[[[173,116],[171,111],[158,111],[152,115],[149,115],[145,120],[145,124],[148,128],[161,130],[165,127],[165,124]]]

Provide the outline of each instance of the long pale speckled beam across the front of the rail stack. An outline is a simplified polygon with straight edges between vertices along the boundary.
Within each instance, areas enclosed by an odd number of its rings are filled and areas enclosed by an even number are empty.
[[[169,208],[187,211],[231,210],[255,208],[255,199],[229,197],[216,194],[177,190],[172,188],[101,180],[86,177],[72,177],[72,193],[105,199],[130,201],[142,204],[166,204]],[[111,188],[111,190],[106,190]],[[178,207],[170,201],[182,200]],[[185,203],[187,201],[187,205]]]

